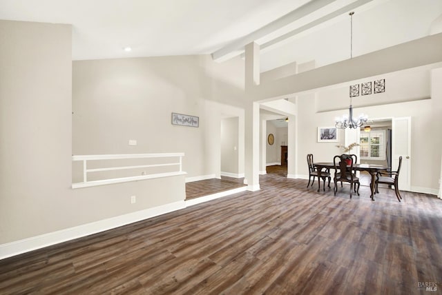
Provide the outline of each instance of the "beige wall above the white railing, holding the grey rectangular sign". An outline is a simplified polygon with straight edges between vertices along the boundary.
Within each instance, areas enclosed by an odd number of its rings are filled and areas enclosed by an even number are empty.
[[[184,152],[188,177],[219,175],[221,111],[206,101],[241,104],[243,89],[223,71],[243,65],[217,66],[205,56],[75,61],[73,154]],[[172,125],[172,112],[200,127]]]

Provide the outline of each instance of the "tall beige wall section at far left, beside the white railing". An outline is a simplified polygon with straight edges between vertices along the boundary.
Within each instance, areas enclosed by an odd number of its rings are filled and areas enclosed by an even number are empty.
[[[72,28],[0,21],[0,244],[70,225]]]

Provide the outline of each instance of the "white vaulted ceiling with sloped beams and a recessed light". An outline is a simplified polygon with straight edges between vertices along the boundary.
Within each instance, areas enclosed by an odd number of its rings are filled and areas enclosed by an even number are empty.
[[[72,24],[74,60],[212,54],[222,61],[256,41],[262,71],[348,59],[351,43],[355,57],[425,37],[440,32],[441,16],[441,0],[0,0],[0,19]]]

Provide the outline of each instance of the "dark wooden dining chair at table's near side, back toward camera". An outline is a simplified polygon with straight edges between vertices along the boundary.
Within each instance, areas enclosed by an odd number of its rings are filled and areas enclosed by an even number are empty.
[[[333,164],[334,164],[334,195],[336,196],[336,192],[338,192],[338,182],[340,182],[341,187],[343,186],[343,182],[350,183],[350,199],[352,199],[352,190],[357,192],[359,195],[359,187],[361,183],[359,182],[356,174],[353,173],[353,166],[355,165],[354,161],[347,162],[347,159],[352,159],[348,154],[341,154],[340,156],[334,156]],[[352,159],[353,160],[353,159]],[[356,191],[356,184],[358,185],[358,190]]]

